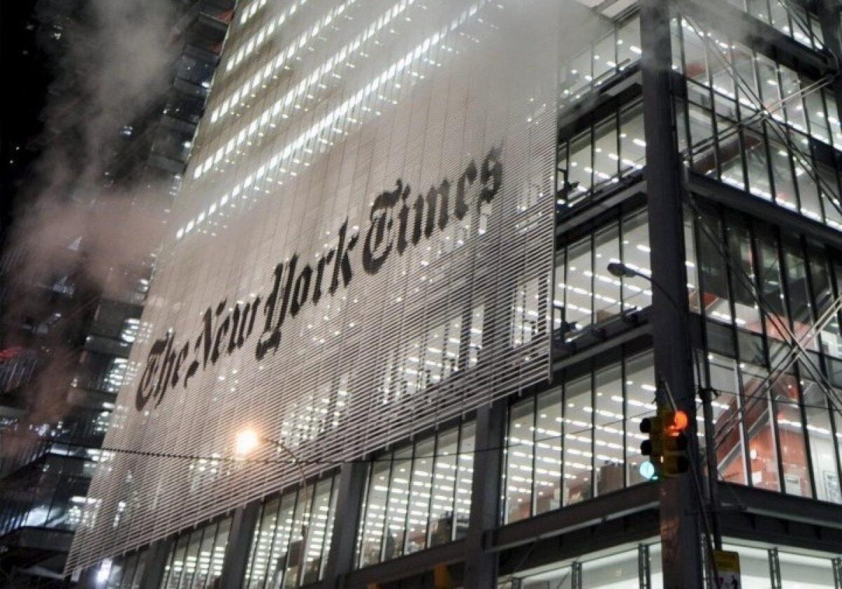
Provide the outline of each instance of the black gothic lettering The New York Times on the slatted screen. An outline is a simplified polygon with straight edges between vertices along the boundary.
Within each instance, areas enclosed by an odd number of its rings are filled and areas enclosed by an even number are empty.
[[[169,331],[153,342],[137,386],[137,410],[153,399],[155,406],[160,405],[170,387],[189,386],[200,370],[237,353],[253,336],[258,315],[260,335],[253,342],[254,357],[259,361],[274,353],[285,321],[294,320],[305,305],[317,305],[322,297],[347,288],[360,266],[365,273],[378,273],[390,257],[402,256],[409,247],[445,229],[451,215],[461,220],[472,207],[490,203],[502,181],[498,148],[489,151],[479,167],[476,162],[469,163],[456,178],[455,187],[445,178],[426,194],[413,195],[409,184],[397,180],[394,190],[374,199],[361,246],[360,233],[349,235],[346,219],[339,227],[336,247],[316,263],[302,263],[296,253],[288,262],[275,266],[269,294],[239,303],[228,312],[228,300],[221,300],[205,310],[194,337],[179,342],[177,334]],[[472,189],[472,194],[478,196],[472,202],[467,197],[468,189],[477,182],[479,186]]]

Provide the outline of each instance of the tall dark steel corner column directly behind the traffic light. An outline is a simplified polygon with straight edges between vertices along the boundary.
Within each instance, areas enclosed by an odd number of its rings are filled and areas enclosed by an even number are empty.
[[[690,456],[695,459],[692,457],[698,456],[698,447],[690,368],[681,164],[674,132],[670,85],[670,4],[669,0],[642,0],[640,3],[646,137],[646,167],[643,174],[647,182],[649,226],[653,228],[649,236],[652,279],[661,287],[653,289],[650,321],[655,378],[658,383],[669,388],[676,406],[690,416]],[[663,395],[663,391],[660,394]],[[667,399],[658,399],[658,402],[666,403]],[[690,474],[681,475],[665,479],[659,484],[665,589],[701,589],[702,586],[698,501],[694,501],[696,491],[690,477]]]

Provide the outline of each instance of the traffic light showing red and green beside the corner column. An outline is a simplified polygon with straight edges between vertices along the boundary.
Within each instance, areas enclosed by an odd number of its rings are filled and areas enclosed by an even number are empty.
[[[687,458],[687,427],[690,418],[685,411],[658,409],[655,417],[646,417],[640,422],[640,431],[648,438],[640,444],[640,453],[649,459],[640,465],[640,474],[648,480],[662,476],[677,476],[687,472],[690,460]]]

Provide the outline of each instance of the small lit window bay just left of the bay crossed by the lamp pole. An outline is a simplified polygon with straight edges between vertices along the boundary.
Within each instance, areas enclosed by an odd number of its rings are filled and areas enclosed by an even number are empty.
[[[162,589],[215,587],[231,531],[231,517],[179,534],[164,566]]]

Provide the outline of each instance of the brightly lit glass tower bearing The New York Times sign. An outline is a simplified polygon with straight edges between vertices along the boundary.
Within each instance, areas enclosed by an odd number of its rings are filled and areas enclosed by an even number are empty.
[[[840,56],[832,0],[240,3],[67,572],[842,586]]]

